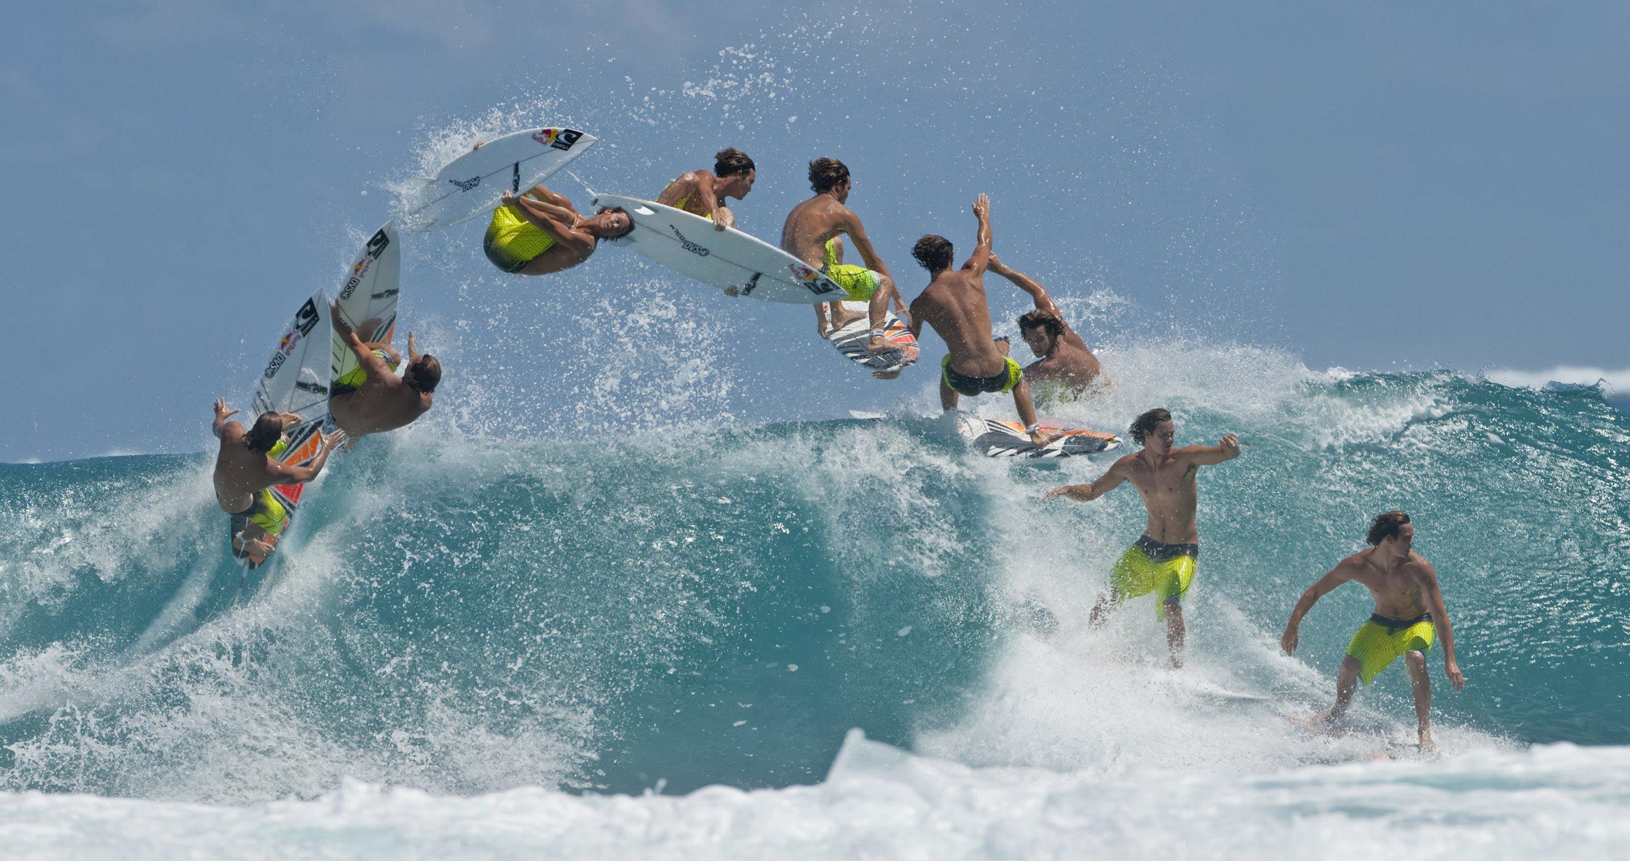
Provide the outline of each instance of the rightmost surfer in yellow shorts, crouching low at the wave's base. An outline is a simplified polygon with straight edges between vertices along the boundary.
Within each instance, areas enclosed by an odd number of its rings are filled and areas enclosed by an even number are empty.
[[[1420,747],[1431,750],[1431,675],[1426,673],[1425,652],[1431,651],[1436,639],[1443,641],[1443,673],[1449,677],[1449,685],[1454,690],[1465,687],[1465,677],[1454,662],[1454,631],[1449,628],[1449,612],[1443,607],[1438,572],[1425,556],[1413,551],[1415,525],[1400,510],[1377,514],[1364,540],[1369,543],[1368,550],[1341,559],[1302,592],[1291,610],[1291,621],[1284,623],[1280,646],[1284,654],[1296,654],[1296,628],[1302,616],[1335,587],[1358,581],[1369,589],[1376,612],[1346,644],[1346,657],[1335,678],[1335,704],[1315,721],[1335,724],[1353,701],[1358,683],[1369,685],[1376,673],[1402,657],[1410,672],[1410,690],[1415,691]]]

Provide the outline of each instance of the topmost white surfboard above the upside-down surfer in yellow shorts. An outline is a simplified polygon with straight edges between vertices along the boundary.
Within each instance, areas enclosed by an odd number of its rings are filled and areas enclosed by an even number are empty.
[[[505,191],[520,194],[543,183],[598,140],[577,129],[522,129],[421,178],[403,199],[403,227],[443,230],[492,212]]]

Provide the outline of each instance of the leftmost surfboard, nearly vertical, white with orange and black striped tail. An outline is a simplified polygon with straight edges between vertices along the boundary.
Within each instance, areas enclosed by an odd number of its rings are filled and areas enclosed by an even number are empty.
[[[293,320],[289,321],[277,341],[277,349],[266,362],[266,370],[254,383],[251,416],[267,411],[300,416],[300,424],[284,432],[289,447],[277,457],[280,463],[305,466],[316,458],[323,447],[323,424],[328,422],[331,333],[328,295],[319,289],[295,311]],[[306,484],[274,484],[271,488],[272,496],[289,510],[290,519],[300,507],[305,489]],[[244,571],[259,563],[244,558]],[[238,587],[243,589],[241,577]]]

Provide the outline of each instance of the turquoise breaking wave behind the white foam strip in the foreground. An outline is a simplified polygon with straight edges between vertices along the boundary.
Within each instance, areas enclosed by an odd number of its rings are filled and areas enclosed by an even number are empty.
[[[236,603],[207,457],[0,465],[0,789],[784,788],[820,783],[854,727],[1104,779],[1407,755],[1399,670],[1346,737],[1286,721],[1328,700],[1358,587],[1294,660],[1273,646],[1390,507],[1469,680],[1449,691],[1431,657],[1447,758],[1630,744],[1630,416],[1599,391],[1195,349],[1053,411],[1120,427],[1152,398],[1180,442],[1252,442],[1201,476],[1185,673],[1265,703],[1161,669],[1148,602],[1084,626],[1141,506],[1037,497],[1102,463],[976,458],[913,416],[575,440],[432,422],[337,461]]]

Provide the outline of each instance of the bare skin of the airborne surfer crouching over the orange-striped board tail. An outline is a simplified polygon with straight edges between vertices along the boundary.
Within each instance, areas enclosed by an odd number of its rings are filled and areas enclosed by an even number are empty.
[[[867,316],[870,318],[872,331],[883,328],[883,320],[888,315],[888,302],[895,303],[895,313],[901,318],[910,320],[906,313],[905,300],[900,298],[900,290],[895,289],[895,279],[888,274],[888,267],[877,256],[872,248],[872,240],[866,236],[866,227],[861,223],[861,217],[849,210],[846,205],[849,201],[849,189],[854,188],[854,178],[844,178],[843,183],[822,191],[804,201],[802,204],[792,207],[787,214],[787,222],[781,228],[781,248],[804,261],[810,269],[822,267],[822,254],[826,246],[826,240],[844,233],[849,241],[854,243],[854,249],[861,253],[861,259],[866,261],[866,267],[877,272],[879,284],[877,292],[872,294],[872,302],[867,307]],[[825,310],[823,310],[825,308]],[[828,318],[830,315],[830,318]],[[859,320],[861,315],[844,310],[841,302],[828,302],[826,305],[815,305],[815,331],[822,338],[826,333],[848,326],[849,323]],[[890,352],[893,351],[882,336],[874,336],[866,344],[867,352]]]

